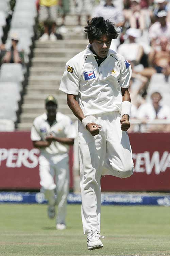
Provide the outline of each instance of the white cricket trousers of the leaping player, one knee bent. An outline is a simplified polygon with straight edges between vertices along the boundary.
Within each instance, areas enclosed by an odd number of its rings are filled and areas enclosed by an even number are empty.
[[[98,135],[92,136],[80,121],[78,124],[84,234],[89,230],[97,230],[100,233],[101,175],[109,174],[126,178],[133,174],[129,137],[127,132],[120,129],[119,112],[89,117],[102,127]]]

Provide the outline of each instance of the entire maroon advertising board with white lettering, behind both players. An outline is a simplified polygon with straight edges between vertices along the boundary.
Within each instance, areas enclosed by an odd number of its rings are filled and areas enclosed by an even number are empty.
[[[106,175],[102,191],[170,191],[170,134],[129,134],[134,174],[126,179]],[[37,190],[39,150],[32,147],[30,132],[0,133],[0,190]],[[70,151],[70,187],[73,152]]]

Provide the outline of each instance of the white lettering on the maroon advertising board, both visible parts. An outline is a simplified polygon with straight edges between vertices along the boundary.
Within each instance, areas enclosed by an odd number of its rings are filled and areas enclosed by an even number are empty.
[[[21,167],[22,165],[27,168],[35,168],[38,165],[39,149],[5,149],[0,148],[0,166],[2,161],[5,161],[5,165],[8,168]],[[160,152],[154,151],[150,156],[150,152],[145,151],[143,153],[133,153],[134,171],[151,174],[154,168],[155,174],[165,172],[167,168],[170,168],[170,153],[164,151],[160,157]]]

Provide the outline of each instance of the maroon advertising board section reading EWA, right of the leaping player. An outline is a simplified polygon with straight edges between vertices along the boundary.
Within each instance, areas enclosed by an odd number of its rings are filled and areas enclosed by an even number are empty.
[[[134,173],[120,179],[106,175],[102,191],[170,191],[170,134],[129,134]]]

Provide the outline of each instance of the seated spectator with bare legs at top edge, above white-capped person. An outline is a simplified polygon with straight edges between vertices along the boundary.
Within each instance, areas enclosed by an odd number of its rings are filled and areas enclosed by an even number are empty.
[[[145,14],[141,11],[140,0],[131,0],[131,8],[124,10],[125,20],[131,28],[146,29]]]

